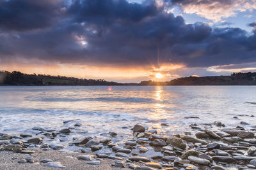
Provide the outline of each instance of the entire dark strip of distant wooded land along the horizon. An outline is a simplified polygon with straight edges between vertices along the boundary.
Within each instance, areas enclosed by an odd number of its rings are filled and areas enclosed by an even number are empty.
[[[24,74],[19,71],[0,71],[0,85],[256,85],[255,73],[232,73],[230,76],[189,76],[171,81],[141,81],[117,83],[104,79],[85,79],[45,74]]]

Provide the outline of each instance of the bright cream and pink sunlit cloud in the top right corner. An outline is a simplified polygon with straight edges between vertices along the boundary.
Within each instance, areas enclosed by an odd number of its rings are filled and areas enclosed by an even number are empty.
[[[255,10],[255,0],[171,0],[173,4],[182,7],[185,13],[196,13],[202,17],[214,20],[234,17],[238,12]]]

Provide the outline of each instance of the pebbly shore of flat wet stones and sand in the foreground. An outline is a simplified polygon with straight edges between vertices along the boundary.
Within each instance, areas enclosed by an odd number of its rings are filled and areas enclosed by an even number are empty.
[[[116,132],[101,139],[85,136],[70,141],[70,146],[79,148],[74,152],[47,143],[56,136],[68,136],[74,128],[33,127],[38,131],[34,136],[0,133],[0,169],[256,169],[256,129],[243,125],[246,122],[230,129],[217,121],[191,124],[184,134],[161,136],[157,129],[136,124],[127,129],[132,140],[113,142]]]

